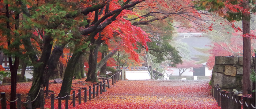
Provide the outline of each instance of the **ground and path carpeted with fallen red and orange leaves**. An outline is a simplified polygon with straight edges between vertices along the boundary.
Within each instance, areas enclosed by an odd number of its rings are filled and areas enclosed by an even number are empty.
[[[88,86],[93,84],[84,80],[73,81],[72,88],[76,93],[79,87],[88,89]],[[82,93],[82,104],[78,105],[78,98],[76,98],[76,107],[69,105],[69,109],[221,109],[210,94],[211,86],[208,85],[208,81],[120,80],[114,86],[111,81],[110,84],[110,89],[106,88],[107,92],[99,94],[91,101],[87,96],[86,103],[83,102],[84,93]],[[22,101],[25,102],[31,82],[19,83],[17,86],[17,93],[22,93]],[[49,90],[53,90],[57,96],[60,87],[61,84],[50,84]],[[1,85],[0,92],[6,92],[9,97],[10,85]],[[71,101],[69,100],[69,104]],[[54,101],[56,109],[57,102],[57,100]],[[50,97],[46,98],[45,107],[50,108]],[[62,108],[65,108],[64,100]]]

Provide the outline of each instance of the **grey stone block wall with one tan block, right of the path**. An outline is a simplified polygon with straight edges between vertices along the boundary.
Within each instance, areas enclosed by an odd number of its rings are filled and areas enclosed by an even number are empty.
[[[255,57],[254,57],[255,58]],[[219,88],[231,92],[233,89],[242,91],[243,57],[215,56],[212,69],[212,87],[219,84]],[[255,62],[252,61],[252,66]]]

